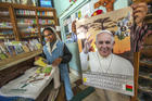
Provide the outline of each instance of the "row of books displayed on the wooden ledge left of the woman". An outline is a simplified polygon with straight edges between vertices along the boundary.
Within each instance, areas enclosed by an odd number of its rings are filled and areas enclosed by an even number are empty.
[[[37,39],[29,41],[9,41],[0,43],[0,60],[41,49],[41,43]]]

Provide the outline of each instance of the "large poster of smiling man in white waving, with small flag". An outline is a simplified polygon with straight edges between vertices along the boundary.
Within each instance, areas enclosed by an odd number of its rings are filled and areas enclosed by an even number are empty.
[[[77,21],[85,85],[134,96],[131,13],[125,8]]]

